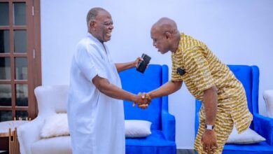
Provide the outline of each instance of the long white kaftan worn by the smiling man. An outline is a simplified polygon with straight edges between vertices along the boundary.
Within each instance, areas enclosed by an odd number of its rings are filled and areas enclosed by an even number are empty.
[[[91,34],[73,55],[68,96],[68,121],[73,154],[124,154],[123,101],[106,96],[92,78],[106,78],[121,87],[109,50]]]

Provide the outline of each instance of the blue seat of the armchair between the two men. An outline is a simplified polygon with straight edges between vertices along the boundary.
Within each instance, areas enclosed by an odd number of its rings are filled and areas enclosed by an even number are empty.
[[[151,132],[152,134],[146,138],[126,139],[126,153],[176,153],[176,144],[174,141],[165,139],[164,134],[159,130],[152,130]]]

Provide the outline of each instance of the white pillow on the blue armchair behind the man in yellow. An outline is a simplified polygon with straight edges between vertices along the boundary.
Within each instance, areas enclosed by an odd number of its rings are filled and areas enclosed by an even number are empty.
[[[227,144],[255,144],[260,141],[265,141],[265,138],[250,128],[241,134],[238,134],[236,128],[233,127],[230,137],[228,137]]]

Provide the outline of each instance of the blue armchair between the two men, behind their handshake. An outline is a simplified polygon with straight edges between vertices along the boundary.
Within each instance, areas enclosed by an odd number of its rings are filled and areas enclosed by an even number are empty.
[[[151,64],[145,73],[136,69],[120,72],[124,90],[134,94],[149,92],[168,81],[168,66]],[[125,120],[148,120],[152,134],[146,138],[126,139],[127,154],[175,154],[175,118],[168,112],[168,97],[153,99],[146,110],[124,102]]]

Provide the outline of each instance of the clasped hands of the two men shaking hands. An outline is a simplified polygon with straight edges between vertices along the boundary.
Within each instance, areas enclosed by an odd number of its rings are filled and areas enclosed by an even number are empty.
[[[147,109],[151,103],[151,100],[152,99],[149,94],[145,92],[139,92],[139,94],[136,95],[136,98],[134,99],[133,106],[136,106],[137,104],[140,109]]]

